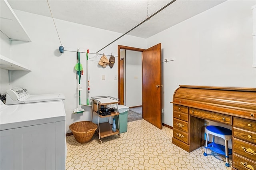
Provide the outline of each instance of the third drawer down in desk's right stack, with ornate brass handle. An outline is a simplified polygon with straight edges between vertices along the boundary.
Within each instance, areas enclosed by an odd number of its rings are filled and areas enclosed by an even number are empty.
[[[244,142],[242,140],[233,139],[234,153],[244,156],[250,160],[256,159],[256,145]]]

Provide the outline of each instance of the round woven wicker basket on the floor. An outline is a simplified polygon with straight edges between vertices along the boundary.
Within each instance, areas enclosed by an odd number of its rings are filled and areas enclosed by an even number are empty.
[[[98,126],[90,121],[75,122],[69,126],[76,141],[79,143],[87,143],[92,139]]]

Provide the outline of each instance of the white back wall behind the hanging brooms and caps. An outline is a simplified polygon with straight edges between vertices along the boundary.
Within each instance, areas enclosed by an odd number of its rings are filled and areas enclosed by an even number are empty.
[[[90,107],[85,107],[86,111],[84,113],[73,114],[73,109],[76,109],[78,105],[76,72],[74,70],[76,53],[66,51],[61,54],[58,51],[60,42],[52,18],[17,10],[14,10],[14,12],[32,42],[12,42],[11,58],[27,65],[32,71],[13,72],[10,86],[26,87],[30,94],[63,93],[66,96],[64,101],[66,132],[71,132],[69,125],[73,122],[90,121]],[[55,20],[55,22],[65,49],[76,50],[80,48],[81,51],[89,49],[90,53],[94,53],[122,35],[62,20]],[[2,41],[4,40],[1,38]],[[100,51],[100,53],[109,55],[113,53],[117,56],[118,45],[145,48],[146,40],[126,35]],[[118,80],[114,80],[114,76],[118,75],[118,62],[114,64],[112,69],[109,66],[102,68],[98,65],[101,55],[94,56],[94,54],[89,54],[89,58],[91,58],[88,67],[90,97],[102,95],[118,97]],[[81,53],[80,58],[84,67],[84,75],[81,78],[81,85],[84,89],[81,91],[81,103],[86,104],[86,54]],[[102,80],[102,75],[105,75],[105,80]],[[6,87],[5,84],[2,82],[1,76],[0,91],[6,90],[2,89],[2,87]]]

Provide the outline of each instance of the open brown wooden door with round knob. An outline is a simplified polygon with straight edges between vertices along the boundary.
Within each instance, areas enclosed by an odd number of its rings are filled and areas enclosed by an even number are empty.
[[[161,43],[142,51],[142,117],[162,129]]]

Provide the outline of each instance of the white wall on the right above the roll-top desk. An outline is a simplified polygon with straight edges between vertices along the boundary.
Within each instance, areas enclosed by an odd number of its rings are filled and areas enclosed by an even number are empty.
[[[147,47],[162,43],[164,113],[173,126],[172,97],[179,85],[256,87],[253,64],[254,0],[226,1],[147,39]]]

